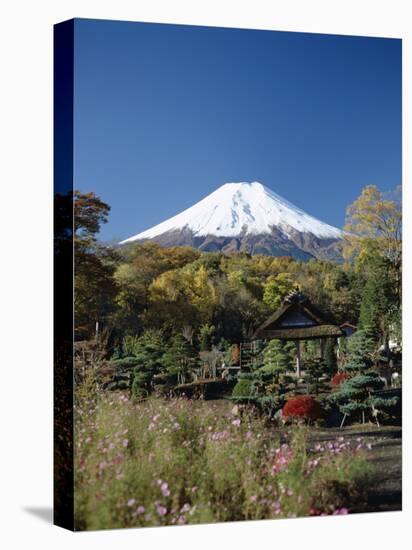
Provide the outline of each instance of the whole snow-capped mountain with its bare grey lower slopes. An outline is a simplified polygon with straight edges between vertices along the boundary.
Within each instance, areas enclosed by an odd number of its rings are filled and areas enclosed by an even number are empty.
[[[343,231],[259,182],[225,183],[180,214],[125,239],[166,247],[339,260]]]

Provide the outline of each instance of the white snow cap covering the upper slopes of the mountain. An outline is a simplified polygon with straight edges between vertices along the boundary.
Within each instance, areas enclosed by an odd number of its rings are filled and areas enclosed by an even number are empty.
[[[195,237],[235,237],[270,234],[274,228],[285,237],[294,231],[320,239],[343,236],[340,229],[310,216],[255,181],[225,183],[187,210],[120,244],[179,230],[190,230]]]

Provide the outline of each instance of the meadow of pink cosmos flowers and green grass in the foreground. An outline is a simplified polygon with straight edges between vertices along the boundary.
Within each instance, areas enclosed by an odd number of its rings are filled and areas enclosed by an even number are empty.
[[[281,430],[228,402],[82,397],[77,529],[183,525],[366,510],[376,475],[362,434]]]

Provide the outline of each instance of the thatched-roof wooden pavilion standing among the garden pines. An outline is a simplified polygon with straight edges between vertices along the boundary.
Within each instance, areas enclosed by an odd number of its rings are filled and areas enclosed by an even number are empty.
[[[344,331],[311,304],[302,292],[295,290],[285,298],[280,308],[255,331],[253,339],[295,340],[297,348],[296,372],[300,376],[300,340],[320,340],[322,355],[324,339],[341,336],[345,336]]]

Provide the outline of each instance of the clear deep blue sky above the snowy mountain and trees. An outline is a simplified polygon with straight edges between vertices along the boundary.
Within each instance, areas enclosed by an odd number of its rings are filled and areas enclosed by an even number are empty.
[[[126,238],[228,181],[258,180],[341,227],[401,183],[401,41],[75,23],[75,185]]]

